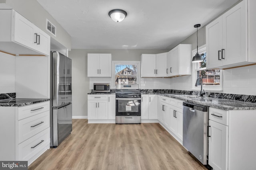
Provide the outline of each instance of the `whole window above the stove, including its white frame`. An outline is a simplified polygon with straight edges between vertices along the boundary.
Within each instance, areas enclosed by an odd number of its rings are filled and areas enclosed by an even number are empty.
[[[112,61],[112,84],[139,84],[139,66],[140,61]]]

